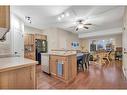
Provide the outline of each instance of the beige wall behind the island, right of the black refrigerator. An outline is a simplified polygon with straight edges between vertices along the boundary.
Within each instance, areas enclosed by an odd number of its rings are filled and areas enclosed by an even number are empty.
[[[72,49],[71,43],[79,41],[78,35],[58,28],[45,29],[43,33],[47,35],[49,52],[52,49]]]

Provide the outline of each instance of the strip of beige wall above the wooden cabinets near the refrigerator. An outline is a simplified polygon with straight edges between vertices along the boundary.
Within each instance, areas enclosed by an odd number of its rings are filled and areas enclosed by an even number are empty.
[[[42,34],[42,30],[30,26],[24,26],[24,32],[29,34]]]

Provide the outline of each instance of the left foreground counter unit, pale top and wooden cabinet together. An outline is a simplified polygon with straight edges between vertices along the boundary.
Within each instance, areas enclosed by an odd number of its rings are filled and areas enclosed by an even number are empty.
[[[0,89],[35,89],[36,61],[23,57],[0,58]]]

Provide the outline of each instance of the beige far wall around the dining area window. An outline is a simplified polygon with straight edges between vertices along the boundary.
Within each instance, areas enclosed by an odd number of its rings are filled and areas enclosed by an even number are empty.
[[[89,37],[89,38],[82,38],[80,39],[80,48],[83,48],[83,51],[86,49],[89,50],[89,41],[90,40],[103,40],[103,39],[115,39],[115,47],[122,47],[122,34],[115,34],[115,35],[106,35],[106,36],[98,36],[98,37]]]

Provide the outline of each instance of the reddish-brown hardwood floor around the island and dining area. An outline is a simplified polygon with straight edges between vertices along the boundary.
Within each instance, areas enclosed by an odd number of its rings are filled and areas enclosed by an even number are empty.
[[[37,66],[38,89],[127,89],[127,80],[122,73],[122,63],[108,65],[90,64],[85,72],[80,71],[70,84],[65,84],[41,71]]]

